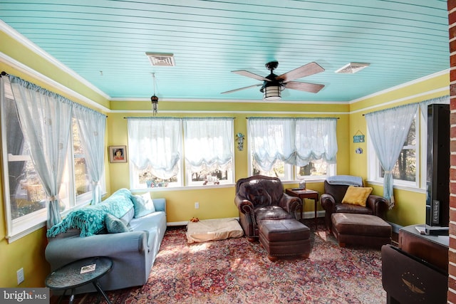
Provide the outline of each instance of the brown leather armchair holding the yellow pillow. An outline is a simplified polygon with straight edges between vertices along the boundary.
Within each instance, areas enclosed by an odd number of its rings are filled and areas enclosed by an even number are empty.
[[[320,203],[325,210],[326,229],[332,231],[331,214],[371,214],[385,219],[388,210],[388,201],[383,196],[369,195],[366,206],[342,204],[341,201],[347,192],[348,184],[329,184],[324,182],[324,193],[320,196]]]

